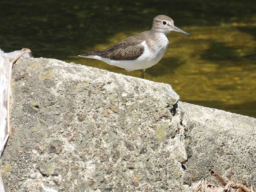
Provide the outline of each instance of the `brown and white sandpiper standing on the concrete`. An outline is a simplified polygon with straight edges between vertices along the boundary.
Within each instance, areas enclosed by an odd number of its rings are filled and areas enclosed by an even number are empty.
[[[169,44],[166,35],[171,31],[189,36],[185,31],[175,27],[170,17],[158,15],[154,18],[150,31],[130,36],[108,49],[90,51],[78,56],[101,60],[109,65],[124,68],[126,75],[130,71],[141,69],[140,77],[144,78],[145,70],[162,59]]]

